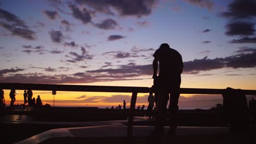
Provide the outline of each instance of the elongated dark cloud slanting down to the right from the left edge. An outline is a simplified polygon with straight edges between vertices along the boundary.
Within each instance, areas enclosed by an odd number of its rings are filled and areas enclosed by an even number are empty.
[[[0,20],[2,20],[0,26],[11,32],[11,35],[17,35],[26,40],[36,40],[36,32],[31,31],[18,16],[0,9]]]

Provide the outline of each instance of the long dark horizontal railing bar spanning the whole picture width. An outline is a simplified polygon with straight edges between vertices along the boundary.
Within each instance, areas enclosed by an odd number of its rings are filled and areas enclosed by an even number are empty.
[[[33,83],[0,83],[2,89],[32,89],[38,91],[71,91],[71,92],[121,92],[121,93],[149,93],[155,92],[148,87],[121,86],[85,86],[85,85],[49,85]],[[224,89],[212,88],[181,88],[182,94],[222,94]],[[243,89],[246,95],[256,95],[256,90]]]

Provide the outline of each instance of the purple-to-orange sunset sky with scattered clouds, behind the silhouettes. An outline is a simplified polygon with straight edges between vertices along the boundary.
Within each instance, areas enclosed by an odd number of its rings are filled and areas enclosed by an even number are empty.
[[[152,55],[168,43],[183,58],[181,87],[256,89],[255,8],[255,0],[2,0],[0,82],[150,87]],[[51,92],[37,95],[53,105]],[[138,104],[147,96],[138,94]],[[57,92],[55,106],[117,106],[130,98]],[[183,109],[217,103],[221,95],[179,100]]]

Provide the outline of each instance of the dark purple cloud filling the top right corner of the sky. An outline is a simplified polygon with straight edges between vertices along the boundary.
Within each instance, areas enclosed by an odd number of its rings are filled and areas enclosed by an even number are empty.
[[[231,17],[235,19],[239,18],[251,18],[256,16],[256,1],[254,0],[236,0],[232,1],[228,5],[228,11],[225,11],[221,15],[223,17]]]

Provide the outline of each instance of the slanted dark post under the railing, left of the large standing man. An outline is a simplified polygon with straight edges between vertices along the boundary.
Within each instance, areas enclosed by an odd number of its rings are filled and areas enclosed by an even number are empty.
[[[127,136],[132,136],[132,124],[133,124],[133,117],[135,113],[135,104],[137,100],[137,93],[132,93],[131,97],[131,104],[129,109],[129,117],[128,117],[128,128],[127,128]]]

